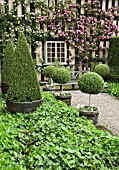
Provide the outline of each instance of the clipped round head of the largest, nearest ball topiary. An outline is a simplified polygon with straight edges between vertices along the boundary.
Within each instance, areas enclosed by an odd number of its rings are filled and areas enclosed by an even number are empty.
[[[87,72],[78,79],[78,86],[83,93],[98,94],[104,88],[104,80],[95,72]]]

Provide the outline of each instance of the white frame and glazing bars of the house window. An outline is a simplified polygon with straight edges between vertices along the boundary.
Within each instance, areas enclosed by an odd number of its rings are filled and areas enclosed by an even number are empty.
[[[65,41],[46,41],[46,44],[45,44],[45,64],[47,64],[47,65],[50,65],[50,64],[52,64],[53,62],[51,61],[51,62],[49,62],[48,61],[48,56],[47,56],[47,54],[48,54],[48,51],[47,51],[47,45],[48,45],[48,43],[54,43],[55,44],[55,58],[57,58],[57,44],[58,43],[63,43],[64,44],[64,62],[62,62],[61,61],[61,45],[60,45],[60,63],[62,64],[62,65],[65,65],[65,64],[67,64],[67,45],[66,45],[66,42]],[[52,53],[52,51],[51,51],[51,53]]]

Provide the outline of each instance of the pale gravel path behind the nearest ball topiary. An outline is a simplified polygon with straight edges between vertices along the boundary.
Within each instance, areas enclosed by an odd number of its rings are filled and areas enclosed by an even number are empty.
[[[77,104],[87,105],[88,94],[80,91],[71,91],[72,106]],[[104,125],[112,132],[119,135],[119,100],[107,93],[100,93],[91,96],[91,104],[99,107],[98,125]]]

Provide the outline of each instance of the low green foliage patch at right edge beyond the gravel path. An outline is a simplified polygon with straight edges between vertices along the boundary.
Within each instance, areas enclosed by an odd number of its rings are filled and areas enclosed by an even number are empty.
[[[119,83],[109,82],[107,92],[119,98]]]

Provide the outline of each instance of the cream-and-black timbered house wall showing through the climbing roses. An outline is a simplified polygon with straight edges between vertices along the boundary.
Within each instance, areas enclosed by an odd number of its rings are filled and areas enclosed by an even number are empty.
[[[0,0],[1,3],[8,3],[8,6],[9,6],[9,10],[12,9],[12,6],[13,6],[13,1],[14,0]],[[27,1],[27,0],[25,0]],[[58,0],[54,0],[54,5],[56,3],[56,1]],[[91,2],[91,0],[72,0],[72,2],[74,3],[79,3],[79,4],[84,4],[84,2]],[[46,0],[46,3],[51,6],[52,5],[52,0]],[[119,0],[100,0],[100,3],[101,3],[101,8],[103,10],[107,10],[108,8],[110,8],[111,6],[119,6]],[[35,12],[36,14],[41,11],[42,9],[41,8],[36,8],[35,10],[32,10],[31,9],[31,6],[28,5],[27,6],[27,11],[28,12]],[[81,9],[81,14],[84,14],[84,9],[82,8]],[[23,15],[23,12],[22,12],[22,4],[20,3],[17,7],[17,16],[22,16]],[[50,15],[52,16],[52,13],[50,13]],[[119,21],[118,20],[114,20],[114,23],[116,23],[116,25],[119,27]],[[40,29],[40,25],[39,25],[39,29]],[[47,31],[47,26],[43,28],[45,31]],[[65,29],[67,29],[67,27],[65,26]],[[116,35],[114,34],[114,36],[119,36],[119,33],[117,33]],[[37,61],[37,64],[38,65],[42,65],[42,61],[41,61],[41,56],[43,56],[43,53],[42,53],[42,41],[39,41],[38,42],[39,44],[39,47],[36,49],[36,61]],[[99,46],[101,47],[109,47],[109,40],[107,41],[101,41]],[[72,55],[75,56],[75,50],[69,46],[69,50],[72,51]],[[92,56],[95,57],[95,52],[92,53]],[[103,57],[104,53],[103,51],[100,51],[100,57]],[[105,54],[105,57],[108,56],[108,53]],[[70,62],[70,65],[75,65],[75,59],[72,60],[72,62]],[[39,79],[41,79],[40,77],[40,74],[39,74]]]

